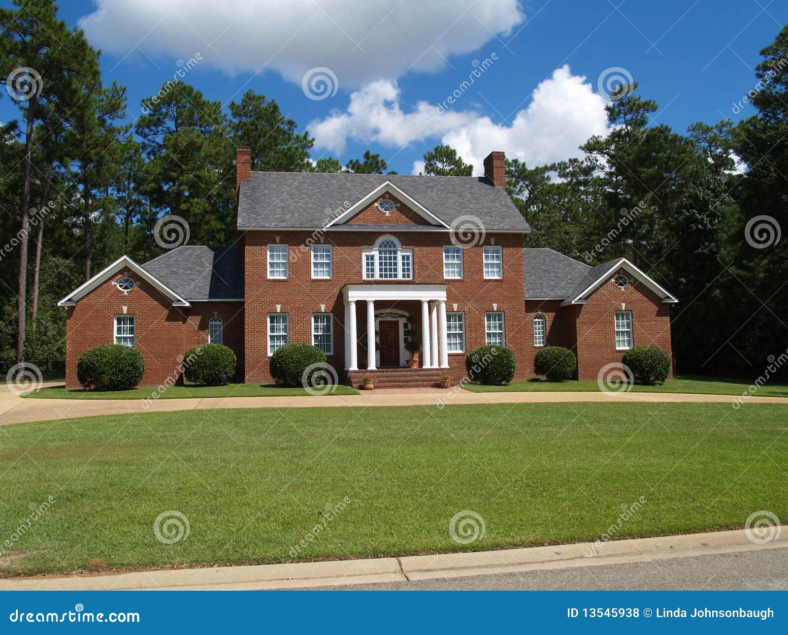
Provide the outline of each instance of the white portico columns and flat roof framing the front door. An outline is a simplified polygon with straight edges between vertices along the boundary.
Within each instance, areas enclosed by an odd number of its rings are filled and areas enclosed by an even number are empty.
[[[445,284],[346,284],[342,294],[346,370],[359,370],[359,303],[366,305],[366,369],[371,371],[377,369],[380,359],[376,340],[376,307],[380,312],[407,301],[421,303],[422,368],[448,368]],[[400,329],[400,338],[403,337],[402,332]],[[404,366],[402,357],[400,366]]]

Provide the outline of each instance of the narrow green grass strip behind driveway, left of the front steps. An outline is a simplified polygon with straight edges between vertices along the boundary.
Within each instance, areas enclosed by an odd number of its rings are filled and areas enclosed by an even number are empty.
[[[132,388],[131,390],[113,390],[92,392],[63,386],[50,386],[37,391],[26,392],[23,397],[32,399],[149,399],[156,392],[155,386]],[[304,388],[281,388],[273,384],[227,384],[226,386],[170,386],[162,391],[157,399],[191,399],[211,397],[291,397],[307,396],[310,393]],[[359,392],[350,386],[337,384],[330,395],[358,395]]]

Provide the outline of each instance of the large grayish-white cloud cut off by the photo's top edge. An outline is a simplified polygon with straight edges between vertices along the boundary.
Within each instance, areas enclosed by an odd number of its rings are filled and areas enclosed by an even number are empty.
[[[118,57],[189,59],[228,73],[273,69],[299,83],[316,66],[340,87],[437,71],[452,55],[505,35],[525,17],[518,0],[94,0],[88,39]]]

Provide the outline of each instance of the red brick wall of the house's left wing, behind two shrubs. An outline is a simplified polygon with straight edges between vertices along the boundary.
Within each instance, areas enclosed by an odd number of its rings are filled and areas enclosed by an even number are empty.
[[[145,358],[141,385],[158,385],[168,378],[177,380],[180,377],[182,364],[178,356],[195,343],[208,341],[208,319],[214,311],[226,318],[225,345],[243,360],[243,303],[194,303],[191,308],[173,307],[170,299],[134,273],[129,277],[137,284],[128,295],[123,295],[112,284],[121,277],[124,273],[117,273],[68,309],[67,388],[80,388],[76,360],[84,351],[114,342],[114,317],[124,314],[123,306],[126,306],[125,314],[136,317],[136,348]],[[243,375],[242,367],[239,375]]]

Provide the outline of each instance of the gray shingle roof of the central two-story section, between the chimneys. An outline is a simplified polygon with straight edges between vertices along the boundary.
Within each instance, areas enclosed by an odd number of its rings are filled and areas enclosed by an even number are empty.
[[[322,228],[375,188],[390,180],[446,225],[478,217],[488,232],[530,232],[503,188],[484,176],[253,172],[243,181],[239,228]]]

